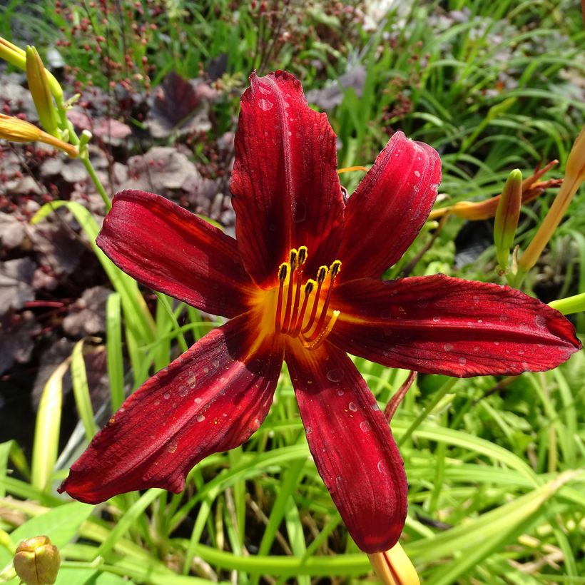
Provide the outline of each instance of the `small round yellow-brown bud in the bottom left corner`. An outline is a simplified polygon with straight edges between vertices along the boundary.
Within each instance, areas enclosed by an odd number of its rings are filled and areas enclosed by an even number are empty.
[[[49,536],[21,542],[14,555],[14,570],[26,585],[52,585],[57,579],[61,556]]]

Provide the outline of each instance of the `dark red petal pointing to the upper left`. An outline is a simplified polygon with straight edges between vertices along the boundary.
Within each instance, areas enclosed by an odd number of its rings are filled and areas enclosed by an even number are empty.
[[[97,243],[125,273],[154,290],[214,315],[248,310],[253,284],[235,240],[160,195],[116,194]]]

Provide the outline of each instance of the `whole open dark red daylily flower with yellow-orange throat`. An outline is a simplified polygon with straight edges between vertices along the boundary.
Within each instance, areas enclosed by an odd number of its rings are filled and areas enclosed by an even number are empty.
[[[124,402],[60,491],[97,503],[180,492],[203,457],[250,437],[283,360],[315,464],[353,539],[390,549],[407,511],[404,464],[347,353],[454,376],[549,370],[572,325],[522,292],[444,275],[380,277],[429,215],[440,161],[392,137],[344,204],[335,134],[299,81],[253,74],[231,182],[237,239],[151,193],[118,193],[98,245],[141,283],[229,317]]]

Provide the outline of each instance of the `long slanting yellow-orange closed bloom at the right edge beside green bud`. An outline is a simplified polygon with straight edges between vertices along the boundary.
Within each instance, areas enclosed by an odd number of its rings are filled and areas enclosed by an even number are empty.
[[[569,203],[573,199],[576,190],[585,180],[585,126],[581,128],[579,136],[571,148],[569,158],[566,161],[566,171],[563,184],[556,194],[554,201],[546,214],[544,221],[541,223],[539,230],[532,239],[524,254],[518,261],[519,273],[526,274],[535,264],[536,260],[544,250],[544,246],[549,243],[554,230],[561,223]]]

